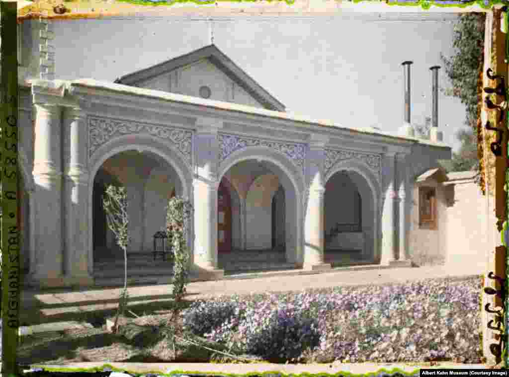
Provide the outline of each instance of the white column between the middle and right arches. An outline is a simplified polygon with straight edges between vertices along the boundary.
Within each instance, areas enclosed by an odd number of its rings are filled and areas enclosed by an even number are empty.
[[[331,266],[324,263],[324,195],[323,165],[325,162],[325,139],[312,139],[306,155],[306,178],[308,198],[304,222],[304,264],[305,270],[326,270]]]

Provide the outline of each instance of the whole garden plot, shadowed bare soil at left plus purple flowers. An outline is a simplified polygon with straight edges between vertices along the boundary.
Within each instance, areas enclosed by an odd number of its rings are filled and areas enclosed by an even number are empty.
[[[18,360],[480,363],[481,287],[477,276],[221,296],[186,300],[177,317],[172,305],[130,303],[135,316],[124,320],[136,326],[119,334],[96,324],[26,336]]]

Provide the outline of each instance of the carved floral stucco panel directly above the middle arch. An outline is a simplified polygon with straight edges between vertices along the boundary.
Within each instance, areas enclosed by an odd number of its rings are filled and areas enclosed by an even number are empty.
[[[267,147],[287,156],[295,165],[304,171],[306,144],[266,140],[254,137],[219,133],[219,163],[222,163],[233,152],[247,147]]]

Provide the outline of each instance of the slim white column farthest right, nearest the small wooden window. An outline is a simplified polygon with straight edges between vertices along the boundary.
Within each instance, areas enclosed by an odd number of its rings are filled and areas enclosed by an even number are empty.
[[[399,153],[397,156],[398,176],[399,176],[399,255],[397,265],[401,267],[410,267],[411,261],[407,259],[408,255],[408,233],[409,233],[409,200],[407,200],[409,169],[408,162],[405,160],[407,155]]]

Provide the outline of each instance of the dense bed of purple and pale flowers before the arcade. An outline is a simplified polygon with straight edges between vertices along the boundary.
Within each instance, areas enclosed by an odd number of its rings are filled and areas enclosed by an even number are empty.
[[[480,277],[219,297],[184,328],[272,362],[482,362]]]

